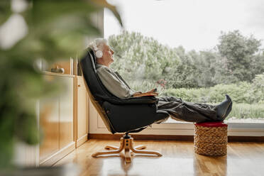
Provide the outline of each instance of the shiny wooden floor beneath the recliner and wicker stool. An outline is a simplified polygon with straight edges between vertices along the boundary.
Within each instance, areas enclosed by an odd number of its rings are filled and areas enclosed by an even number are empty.
[[[119,141],[89,140],[56,165],[77,163],[81,175],[264,175],[264,143],[229,143],[224,157],[207,157],[193,151],[192,142],[135,141],[159,150],[162,157],[134,155],[131,164],[123,157],[92,158],[92,153]]]

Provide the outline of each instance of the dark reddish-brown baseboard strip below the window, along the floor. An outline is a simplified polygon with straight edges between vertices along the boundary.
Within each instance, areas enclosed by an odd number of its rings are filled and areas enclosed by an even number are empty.
[[[135,140],[144,141],[194,141],[194,136],[130,134]],[[89,133],[88,139],[119,140],[123,134]],[[229,142],[264,143],[264,136],[228,136]]]

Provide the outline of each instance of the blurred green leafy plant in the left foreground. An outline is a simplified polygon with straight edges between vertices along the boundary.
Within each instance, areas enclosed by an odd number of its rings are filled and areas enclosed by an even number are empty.
[[[122,26],[116,7],[106,0],[21,1],[26,4],[23,11],[13,8],[16,1],[0,1],[0,27],[12,16],[26,22],[25,35],[13,45],[0,41],[0,169],[11,166],[16,139],[32,145],[40,141],[35,101],[59,88],[43,79],[36,62],[82,55],[84,38],[101,35],[91,17],[103,8],[110,9]],[[12,29],[13,33],[20,30]]]

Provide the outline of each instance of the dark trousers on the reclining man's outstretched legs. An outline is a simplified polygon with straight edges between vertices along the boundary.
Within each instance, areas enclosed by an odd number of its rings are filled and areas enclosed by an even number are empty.
[[[158,109],[167,111],[177,121],[220,121],[216,116],[216,106],[191,103],[175,97],[158,98]]]

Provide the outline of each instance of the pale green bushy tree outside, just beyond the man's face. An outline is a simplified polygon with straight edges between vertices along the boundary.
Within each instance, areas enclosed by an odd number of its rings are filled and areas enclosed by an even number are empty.
[[[140,33],[124,31],[121,35],[111,35],[109,45],[115,51],[115,62],[111,67],[118,70],[133,88],[143,82],[155,86],[158,80],[167,79],[180,62],[172,48]]]

